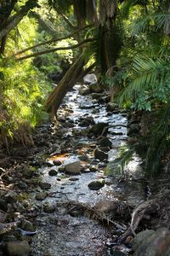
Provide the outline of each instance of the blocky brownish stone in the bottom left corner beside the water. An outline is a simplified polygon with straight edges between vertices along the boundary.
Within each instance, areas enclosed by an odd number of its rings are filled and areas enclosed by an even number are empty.
[[[28,241],[8,241],[5,245],[5,251],[8,256],[28,256],[30,246]]]

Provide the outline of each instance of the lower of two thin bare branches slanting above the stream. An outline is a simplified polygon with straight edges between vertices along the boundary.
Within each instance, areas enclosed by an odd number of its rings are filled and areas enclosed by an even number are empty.
[[[32,57],[35,57],[35,56],[38,56],[38,55],[44,55],[44,54],[51,53],[51,52],[54,52],[56,50],[76,49],[77,47],[81,46],[82,44],[86,44],[88,42],[93,42],[93,41],[94,41],[94,38],[88,38],[88,39],[82,41],[79,44],[74,44],[74,45],[67,46],[67,47],[57,47],[57,48],[54,48],[54,49],[45,49],[45,50],[33,53],[31,55],[25,55],[23,57],[19,57],[17,60],[18,61],[23,61],[23,60],[26,60],[28,58],[32,58]]]

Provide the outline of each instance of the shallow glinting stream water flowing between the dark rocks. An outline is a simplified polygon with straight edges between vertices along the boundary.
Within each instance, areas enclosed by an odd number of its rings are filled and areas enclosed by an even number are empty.
[[[109,164],[116,159],[118,148],[127,141],[127,117],[126,113],[107,113],[105,103],[99,104],[92,100],[91,96],[80,96],[80,85],[67,94],[59,115],[63,123],[59,123],[57,131],[52,129],[56,143],[63,145],[64,154],[53,152],[48,157],[48,162],[80,159],[84,170],[80,175],[69,176],[59,172],[57,176],[48,175],[50,170],[58,171],[58,166],[42,166],[42,181],[52,186],[48,190],[48,197],[41,202],[33,201],[39,214],[36,218],[37,235],[31,243],[32,256],[98,256],[111,255],[105,243],[111,239],[114,226],[108,228],[99,224],[99,221],[88,218],[84,214],[71,216],[68,206],[71,202],[85,204],[94,207],[99,201],[124,201],[132,207],[144,200],[144,188],[139,183],[142,170],[139,166],[138,156],[133,155],[133,160],[128,164],[125,173],[119,179],[107,177],[107,163],[94,159],[96,138],[87,136],[87,127],[80,126],[80,122],[87,117],[93,117],[95,123],[105,122],[109,126],[107,137],[112,142],[109,152]],[[52,148],[53,151],[53,148]],[[55,150],[54,150],[55,151]],[[90,172],[90,166],[98,166],[98,172]],[[110,170],[111,172],[111,170]],[[114,170],[112,170],[114,172]],[[119,175],[121,175],[119,173]],[[99,190],[90,190],[88,183],[96,179],[105,179],[105,186]],[[43,212],[44,206],[54,207],[53,213]],[[123,250],[122,250],[123,251]],[[123,251],[126,254],[126,251]]]

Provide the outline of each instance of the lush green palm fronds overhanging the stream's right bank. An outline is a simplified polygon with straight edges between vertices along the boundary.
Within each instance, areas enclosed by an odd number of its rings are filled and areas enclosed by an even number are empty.
[[[150,146],[146,154],[146,170],[154,175],[169,150],[170,6],[168,1],[147,1],[145,12],[141,13],[133,3],[127,1],[124,6],[124,13],[129,17],[127,39],[117,61],[119,73],[110,84],[114,86],[119,79],[120,105],[149,112],[156,109],[161,113],[161,117],[156,114],[154,128],[150,127]],[[135,1],[137,3],[139,1]],[[139,17],[131,19],[135,11]]]

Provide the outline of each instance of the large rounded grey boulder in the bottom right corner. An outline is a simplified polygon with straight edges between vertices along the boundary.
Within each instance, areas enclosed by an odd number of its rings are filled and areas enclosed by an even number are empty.
[[[133,240],[134,256],[166,255],[170,247],[169,230],[162,228],[156,231],[145,230],[140,233]]]

